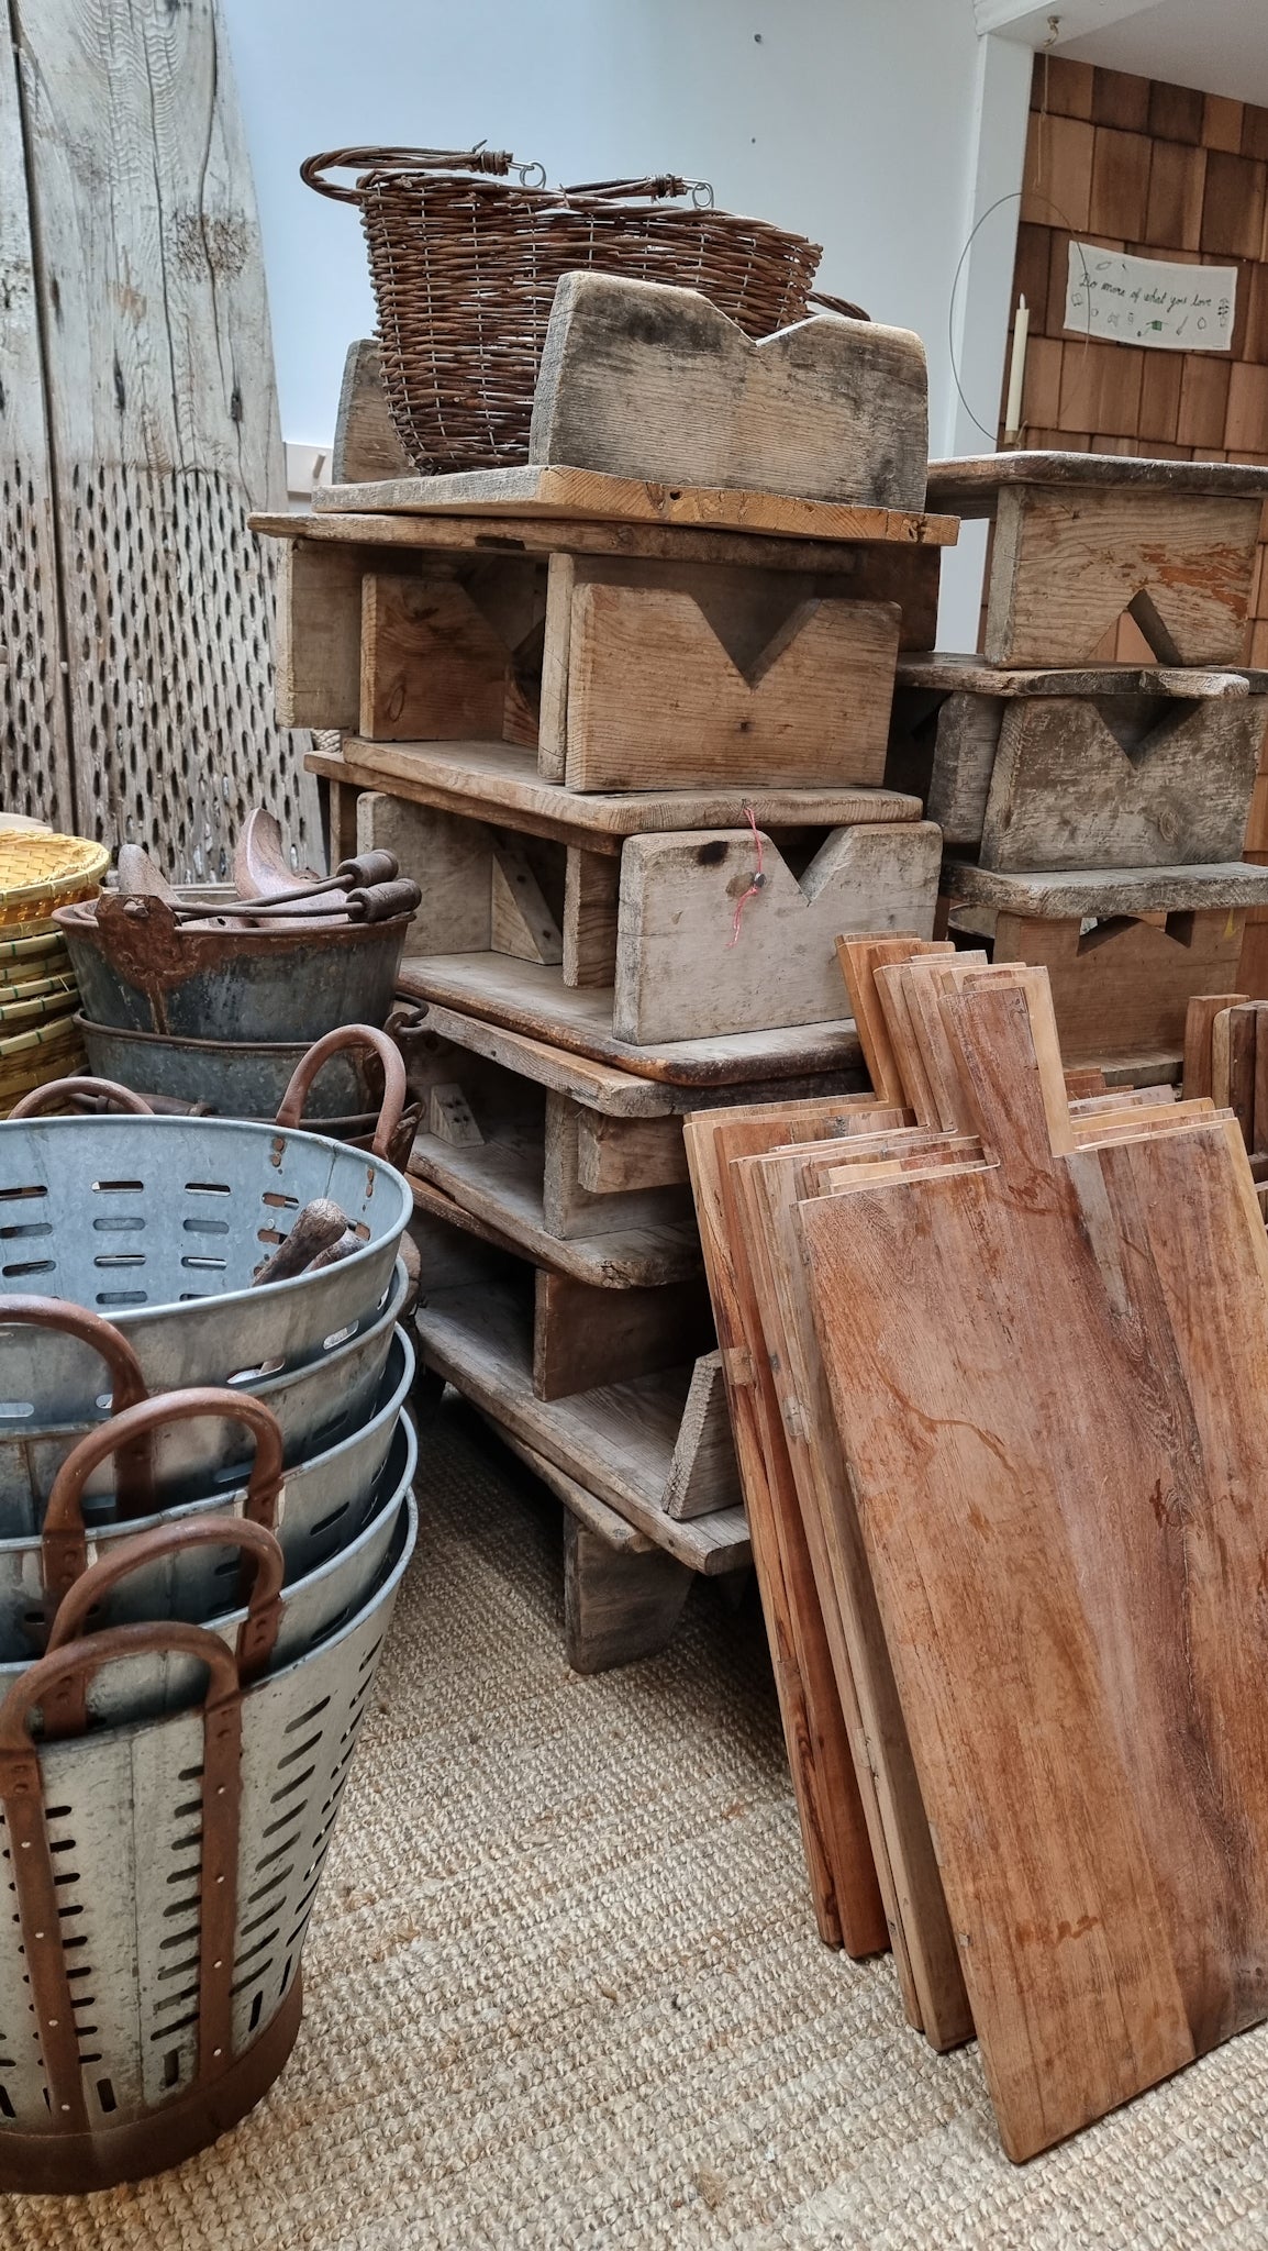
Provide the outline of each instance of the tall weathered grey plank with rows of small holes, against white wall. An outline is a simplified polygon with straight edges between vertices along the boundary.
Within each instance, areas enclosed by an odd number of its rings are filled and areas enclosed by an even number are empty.
[[[275,558],[248,531],[252,506],[284,506],[286,475],[218,9],[11,0],[9,34],[74,633],[74,824],[198,880],[264,799],[311,860],[315,790],[273,725]],[[20,383],[7,365],[7,398]]]

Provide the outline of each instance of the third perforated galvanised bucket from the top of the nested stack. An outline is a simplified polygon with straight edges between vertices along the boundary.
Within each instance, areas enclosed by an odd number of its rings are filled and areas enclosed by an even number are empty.
[[[363,1533],[369,1533],[392,1499],[401,1499],[412,1477],[412,1432],[401,1420],[412,1375],[414,1351],[405,1333],[396,1330],[376,1414],[351,1438],[342,1438],[327,1452],[291,1468],[277,1497],[266,1495],[264,1510],[257,1510],[259,1495],[243,1481],[241,1468],[234,1468],[227,1481],[203,1499],[149,1517],[115,1517],[86,1526],[88,1537],[81,1542],[79,1555],[72,1558],[72,1569],[77,1564],[88,1569],[90,1562],[113,1555],[122,1542],[155,1524],[180,1526],[207,1515],[245,1517],[255,1513],[255,1522],[268,1524],[282,1542],[288,1587],[304,1585],[331,1558],[349,1551],[354,1582],[349,1598],[356,1598],[360,1573],[374,1576],[376,1569],[374,1542],[365,1551],[360,1549]],[[162,1407],[162,1400],[153,1405]],[[176,1429],[178,1425],[162,1427]],[[79,1508],[77,1522],[86,1522]],[[205,1623],[223,1612],[234,1591],[239,1564],[241,1558],[232,1549],[173,1549],[164,1562],[149,1564],[113,1589],[101,1618],[110,1625],[131,1618]],[[0,1666],[23,1663],[43,1650],[63,1585],[61,1544],[50,1542],[45,1553],[38,1533],[0,1542]],[[322,1580],[315,1591],[322,1607],[329,1603],[340,1607],[347,1594],[336,1580],[329,1585]],[[302,1632],[304,1614],[286,1612],[284,1623],[286,1632]]]

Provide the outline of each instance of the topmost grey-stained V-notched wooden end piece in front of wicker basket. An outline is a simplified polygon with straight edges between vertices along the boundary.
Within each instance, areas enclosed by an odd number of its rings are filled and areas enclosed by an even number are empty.
[[[545,333],[529,461],[923,509],[923,344],[833,313],[752,342],[698,290],[570,272]]]

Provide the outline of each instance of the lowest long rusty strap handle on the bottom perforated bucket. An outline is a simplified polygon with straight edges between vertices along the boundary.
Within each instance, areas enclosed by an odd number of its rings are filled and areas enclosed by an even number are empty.
[[[198,2075],[232,2057],[232,1974],[239,1918],[241,1684],[234,1652],[203,1625],[113,1625],[36,1659],[0,1704],[0,1801],[11,1882],[52,2114],[68,2134],[88,2132],[74,1997],[65,1972],[56,1875],[50,1853],[41,1754],[29,1738],[36,1706],[74,1704],[74,1686],[126,1657],[173,1650],[207,1666],[203,1693],[203,1853],[198,1871]]]

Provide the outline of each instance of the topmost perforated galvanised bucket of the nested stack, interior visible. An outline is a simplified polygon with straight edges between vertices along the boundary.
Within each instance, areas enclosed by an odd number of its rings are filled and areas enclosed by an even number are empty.
[[[252,1288],[315,1198],[365,1231],[363,1247]],[[32,1290],[104,1312],[151,1391],[302,1366],[381,1303],[410,1213],[401,1173],[313,1132],[239,1119],[23,1119],[0,1126],[0,1319],[2,1292]],[[47,1337],[32,1371],[14,1335],[0,1328],[0,1400],[34,1400],[36,1423],[90,1423],[99,1380],[86,1384],[81,1348]]]

